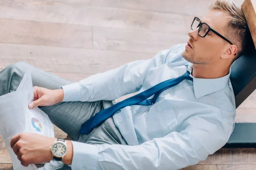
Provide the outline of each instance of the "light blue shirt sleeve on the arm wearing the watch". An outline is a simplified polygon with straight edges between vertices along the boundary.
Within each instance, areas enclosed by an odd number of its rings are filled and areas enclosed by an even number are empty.
[[[232,120],[208,114],[184,122],[180,133],[172,132],[137,146],[90,145],[73,142],[73,170],[177,170],[207,159],[227,143]]]

